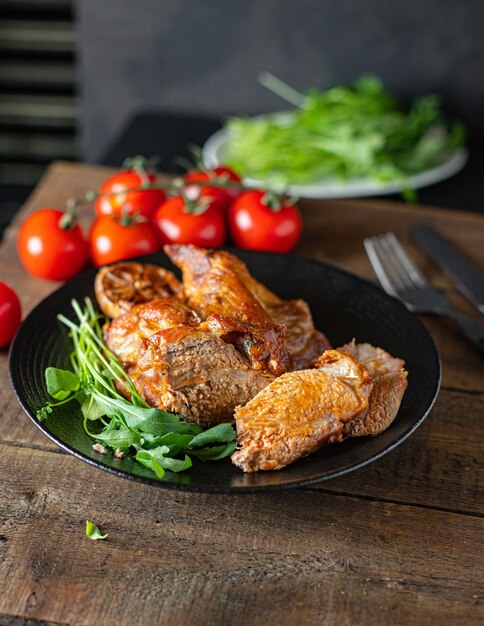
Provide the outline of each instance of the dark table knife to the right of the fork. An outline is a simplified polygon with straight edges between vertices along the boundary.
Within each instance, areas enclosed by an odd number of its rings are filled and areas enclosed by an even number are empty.
[[[417,242],[430,258],[452,278],[458,290],[484,313],[484,274],[430,226],[417,224],[414,232]]]

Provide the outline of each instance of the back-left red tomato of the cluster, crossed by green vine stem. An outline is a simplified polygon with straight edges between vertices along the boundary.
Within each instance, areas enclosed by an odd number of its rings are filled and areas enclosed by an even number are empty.
[[[99,193],[110,194],[140,187],[146,181],[154,182],[156,176],[151,172],[134,169],[123,170],[104,181]],[[102,196],[94,203],[96,215],[115,215],[121,217],[127,209],[131,215],[135,213],[151,219],[153,213],[166,199],[163,189],[141,189],[113,196]]]

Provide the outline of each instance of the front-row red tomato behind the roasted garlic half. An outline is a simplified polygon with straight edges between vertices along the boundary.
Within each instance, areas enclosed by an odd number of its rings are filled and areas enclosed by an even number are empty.
[[[117,219],[101,215],[92,223],[89,233],[91,260],[96,267],[109,265],[134,256],[160,250],[156,228],[146,218]]]

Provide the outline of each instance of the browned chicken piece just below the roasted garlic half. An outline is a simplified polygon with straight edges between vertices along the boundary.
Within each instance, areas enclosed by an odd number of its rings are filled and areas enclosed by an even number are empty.
[[[139,340],[173,326],[197,326],[200,318],[175,297],[158,298],[136,304],[127,313],[116,317],[103,328],[104,343],[131,367],[138,359]]]

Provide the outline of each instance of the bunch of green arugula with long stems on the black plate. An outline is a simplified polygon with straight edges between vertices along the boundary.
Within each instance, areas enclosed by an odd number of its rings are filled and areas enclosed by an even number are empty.
[[[191,457],[202,461],[222,459],[232,454],[236,434],[231,424],[203,430],[198,424],[183,422],[176,415],[150,407],[136,391],[116,355],[104,345],[100,316],[89,298],[85,307],[72,301],[77,317],[58,319],[69,328],[73,342],[72,370],[48,367],[47,391],[56,402],[37,412],[48,419],[56,407],[77,401],[84,417],[84,429],[102,446],[118,456],[129,454],[158,478],[165,470],[181,472],[192,465]],[[115,382],[131,394],[131,401],[118,391]]]

